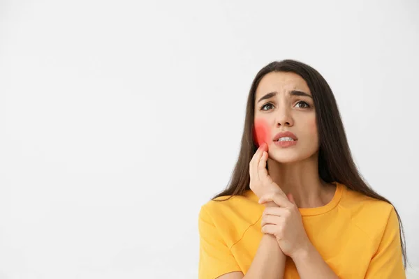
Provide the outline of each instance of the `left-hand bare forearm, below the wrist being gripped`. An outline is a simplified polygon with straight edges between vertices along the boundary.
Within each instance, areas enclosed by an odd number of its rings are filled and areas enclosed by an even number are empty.
[[[267,206],[276,206],[269,204]],[[277,239],[271,234],[263,234],[258,250],[253,262],[247,271],[244,279],[264,278],[281,279],[284,278],[286,255],[279,248]]]

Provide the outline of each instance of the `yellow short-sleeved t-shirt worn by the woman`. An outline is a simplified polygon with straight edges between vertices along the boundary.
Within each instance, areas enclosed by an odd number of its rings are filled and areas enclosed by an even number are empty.
[[[325,262],[341,279],[406,278],[393,206],[335,184],[335,195],[328,204],[299,209],[307,236]],[[247,273],[263,236],[260,221],[264,209],[251,190],[201,207],[200,279],[232,271]],[[300,278],[289,257],[284,278]]]

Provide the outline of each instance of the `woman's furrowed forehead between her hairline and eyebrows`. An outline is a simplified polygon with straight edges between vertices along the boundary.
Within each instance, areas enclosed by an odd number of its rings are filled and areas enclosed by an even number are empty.
[[[303,91],[311,95],[307,82],[300,75],[286,72],[271,72],[260,80],[256,89],[256,99],[273,91],[285,93],[292,90]]]

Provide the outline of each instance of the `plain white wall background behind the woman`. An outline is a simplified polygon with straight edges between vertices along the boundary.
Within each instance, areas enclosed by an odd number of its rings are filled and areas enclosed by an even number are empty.
[[[418,13],[416,0],[0,1],[0,278],[197,278],[198,212],[230,179],[251,81],[288,58],[330,83],[419,266]]]

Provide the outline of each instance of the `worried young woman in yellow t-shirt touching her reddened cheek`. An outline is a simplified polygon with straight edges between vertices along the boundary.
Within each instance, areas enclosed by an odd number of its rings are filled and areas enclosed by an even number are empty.
[[[399,214],[358,173],[314,68],[259,71],[241,144],[229,186],[200,209],[200,279],[406,278]]]

